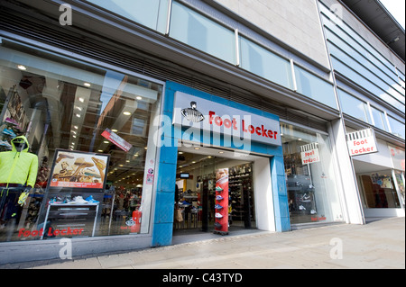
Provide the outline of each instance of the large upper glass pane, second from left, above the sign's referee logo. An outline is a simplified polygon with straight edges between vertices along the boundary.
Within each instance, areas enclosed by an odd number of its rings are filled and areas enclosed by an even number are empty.
[[[188,7],[173,2],[170,36],[217,58],[235,63],[235,33]]]

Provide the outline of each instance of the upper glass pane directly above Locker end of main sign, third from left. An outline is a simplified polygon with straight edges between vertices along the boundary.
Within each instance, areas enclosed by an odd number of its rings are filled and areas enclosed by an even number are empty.
[[[293,89],[291,63],[240,36],[241,67],[278,85]]]

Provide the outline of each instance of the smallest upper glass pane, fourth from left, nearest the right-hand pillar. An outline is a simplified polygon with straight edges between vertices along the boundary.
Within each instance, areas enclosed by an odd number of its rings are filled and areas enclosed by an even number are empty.
[[[300,94],[304,94],[313,100],[337,109],[336,96],[332,84],[298,66],[295,66],[295,75]]]

